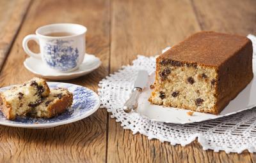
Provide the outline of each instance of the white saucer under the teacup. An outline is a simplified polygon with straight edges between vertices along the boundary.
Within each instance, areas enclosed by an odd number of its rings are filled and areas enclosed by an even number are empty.
[[[54,69],[47,67],[41,59],[36,59],[34,57],[29,57],[24,61],[24,66],[31,71],[31,73],[38,77],[51,80],[70,80],[77,78],[84,74],[91,73],[93,70],[97,69],[100,64],[101,61],[98,57],[88,53],[84,55],[83,63],[79,68],[71,72],[55,71]]]

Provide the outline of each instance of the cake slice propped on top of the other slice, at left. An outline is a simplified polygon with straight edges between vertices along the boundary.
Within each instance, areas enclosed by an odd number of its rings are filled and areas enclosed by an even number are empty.
[[[23,85],[0,92],[0,108],[7,119],[13,120],[16,115],[25,115],[40,104],[42,97],[47,97],[49,92],[45,80],[33,78]]]

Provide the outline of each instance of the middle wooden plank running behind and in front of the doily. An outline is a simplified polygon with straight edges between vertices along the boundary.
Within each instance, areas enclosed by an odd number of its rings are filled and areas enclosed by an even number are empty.
[[[156,55],[200,31],[190,1],[113,1],[111,73],[138,53]],[[109,119],[108,162],[210,162],[198,145],[182,147],[132,135]]]

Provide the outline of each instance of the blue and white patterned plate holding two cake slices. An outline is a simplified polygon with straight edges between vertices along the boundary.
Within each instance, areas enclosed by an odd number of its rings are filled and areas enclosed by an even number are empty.
[[[57,87],[66,88],[73,93],[73,104],[61,115],[54,118],[30,118],[30,117],[17,117],[15,120],[7,120],[4,118],[3,113],[0,111],[0,124],[12,127],[24,128],[49,128],[58,125],[70,124],[92,115],[98,110],[100,106],[99,96],[90,89],[79,85],[70,83],[47,82],[50,89]],[[3,87],[0,92],[10,89],[10,87]]]

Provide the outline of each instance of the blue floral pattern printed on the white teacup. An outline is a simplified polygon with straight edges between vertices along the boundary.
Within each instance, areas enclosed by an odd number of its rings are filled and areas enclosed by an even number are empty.
[[[67,71],[77,66],[79,51],[76,47],[70,46],[70,41],[52,39],[44,46],[44,60],[48,66],[60,71]]]

